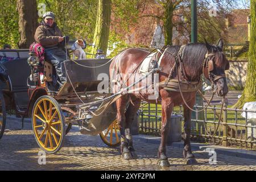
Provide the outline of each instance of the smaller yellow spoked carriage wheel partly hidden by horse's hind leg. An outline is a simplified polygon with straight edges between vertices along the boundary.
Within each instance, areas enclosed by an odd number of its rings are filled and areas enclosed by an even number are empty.
[[[120,145],[120,130],[117,124],[117,119],[108,127],[108,129],[100,133],[102,141],[110,147],[117,147]]]

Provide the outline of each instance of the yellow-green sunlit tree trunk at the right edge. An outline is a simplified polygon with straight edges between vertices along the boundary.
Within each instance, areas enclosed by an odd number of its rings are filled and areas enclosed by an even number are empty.
[[[250,47],[245,89],[233,107],[241,108],[251,101],[256,101],[256,0],[251,0]]]

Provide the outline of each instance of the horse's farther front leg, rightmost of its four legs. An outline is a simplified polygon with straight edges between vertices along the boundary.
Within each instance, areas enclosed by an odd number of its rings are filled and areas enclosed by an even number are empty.
[[[189,102],[189,107],[193,108],[195,101]],[[190,141],[190,133],[191,133],[191,110],[183,105],[184,108],[184,150],[183,156],[187,161],[187,164],[196,164],[195,156],[192,154],[191,150],[191,141]]]

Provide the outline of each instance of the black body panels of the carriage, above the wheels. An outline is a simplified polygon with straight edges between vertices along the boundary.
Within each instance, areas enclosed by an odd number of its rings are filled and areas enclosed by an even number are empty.
[[[10,60],[0,63],[2,65],[1,72],[6,73],[8,76],[7,82],[0,82],[1,90],[4,90],[6,103],[9,104],[9,109],[14,109],[18,114],[30,115],[32,112],[31,107],[36,99],[43,95],[57,96],[71,96],[72,85],[75,86],[76,91],[84,90],[88,92],[97,92],[97,85],[100,82],[97,80],[100,73],[109,75],[109,65],[106,64],[109,59],[86,59],[76,60],[76,62],[67,60],[62,63],[63,72],[67,68],[67,83],[63,88],[58,90],[57,94],[48,92],[46,84],[39,82],[38,85],[29,87],[27,78],[31,74],[31,67],[27,63],[28,49],[15,49],[15,50],[1,50],[0,57],[9,57]],[[99,67],[105,64],[103,67]],[[85,66],[85,67],[83,67]],[[4,75],[1,76],[1,78]],[[59,98],[56,97],[56,100]]]

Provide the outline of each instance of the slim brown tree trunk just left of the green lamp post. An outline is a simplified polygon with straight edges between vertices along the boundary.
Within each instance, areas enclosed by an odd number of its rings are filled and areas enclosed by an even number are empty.
[[[174,23],[172,22],[172,16],[174,16],[174,4],[172,3],[172,0],[167,0],[164,9],[164,38],[166,45],[172,45],[172,29],[174,28]]]

